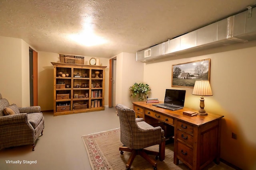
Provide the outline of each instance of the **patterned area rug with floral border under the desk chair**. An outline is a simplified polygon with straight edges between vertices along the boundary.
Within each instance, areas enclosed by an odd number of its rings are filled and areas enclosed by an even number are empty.
[[[83,135],[84,146],[88,154],[92,170],[124,170],[126,162],[130,156],[130,152],[120,154],[120,128],[102,131],[89,135]],[[158,151],[158,145],[148,147],[147,149]],[[178,166],[173,164],[174,145],[170,143],[166,145],[165,160],[157,160],[158,170],[189,170],[188,166],[181,161]],[[155,156],[153,156],[154,158]],[[204,169],[212,169],[214,162]],[[132,163],[131,170],[152,170],[150,165],[144,158],[137,155]]]

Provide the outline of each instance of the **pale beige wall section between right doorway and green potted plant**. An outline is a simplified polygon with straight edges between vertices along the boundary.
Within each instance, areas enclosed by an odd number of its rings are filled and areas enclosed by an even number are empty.
[[[132,108],[129,87],[143,82],[144,64],[136,62],[136,54],[116,55],[116,104]]]

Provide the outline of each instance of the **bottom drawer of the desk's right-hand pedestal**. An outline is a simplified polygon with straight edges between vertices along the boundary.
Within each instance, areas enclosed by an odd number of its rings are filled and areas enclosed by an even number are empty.
[[[192,166],[193,149],[178,141],[177,156]]]

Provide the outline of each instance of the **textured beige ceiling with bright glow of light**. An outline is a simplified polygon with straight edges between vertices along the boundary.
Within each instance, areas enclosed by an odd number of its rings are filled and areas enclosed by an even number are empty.
[[[1,0],[0,35],[23,39],[36,51],[110,58],[255,5],[256,0]],[[91,46],[71,35],[89,40]],[[93,45],[97,38],[105,43]]]

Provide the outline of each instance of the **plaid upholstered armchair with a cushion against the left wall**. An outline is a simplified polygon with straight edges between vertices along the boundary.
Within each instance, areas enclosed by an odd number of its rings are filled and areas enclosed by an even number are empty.
[[[0,94],[0,149],[32,145],[43,135],[44,117],[40,106],[18,108]]]

